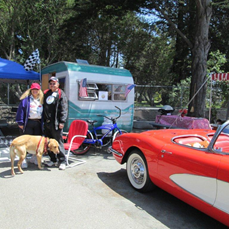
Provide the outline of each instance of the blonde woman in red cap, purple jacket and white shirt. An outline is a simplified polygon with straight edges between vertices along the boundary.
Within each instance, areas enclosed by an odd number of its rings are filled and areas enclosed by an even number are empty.
[[[44,94],[38,83],[32,83],[22,94],[16,115],[21,134],[42,135],[43,99]],[[36,157],[32,157],[31,162],[36,164]]]

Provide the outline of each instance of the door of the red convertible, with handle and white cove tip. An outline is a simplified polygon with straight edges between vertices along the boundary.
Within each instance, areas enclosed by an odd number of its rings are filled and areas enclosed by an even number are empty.
[[[206,149],[165,144],[158,155],[158,175],[165,190],[184,198],[198,197],[213,205],[220,156]],[[189,200],[190,201],[190,200]]]

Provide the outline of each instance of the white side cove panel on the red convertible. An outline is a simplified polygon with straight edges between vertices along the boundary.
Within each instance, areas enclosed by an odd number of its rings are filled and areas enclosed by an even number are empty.
[[[174,174],[170,179],[187,192],[229,214],[228,182],[192,174]]]

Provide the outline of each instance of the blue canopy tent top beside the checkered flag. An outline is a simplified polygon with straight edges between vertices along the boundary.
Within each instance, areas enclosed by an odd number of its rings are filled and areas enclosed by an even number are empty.
[[[21,64],[14,61],[0,58],[0,81],[9,82],[21,82],[21,80],[40,80],[40,74],[34,71],[26,71]],[[20,80],[20,81],[18,81]]]

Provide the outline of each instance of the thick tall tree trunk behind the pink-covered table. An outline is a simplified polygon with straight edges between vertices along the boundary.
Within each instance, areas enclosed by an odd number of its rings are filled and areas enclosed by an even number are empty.
[[[189,115],[193,117],[205,117],[205,96],[207,86],[206,84],[203,86],[203,84],[207,77],[207,57],[210,49],[208,33],[212,14],[211,0],[196,0],[196,6],[197,20],[196,35],[192,48],[190,101],[195,94],[198,93],[189,105]]]

